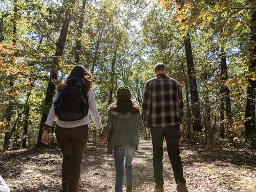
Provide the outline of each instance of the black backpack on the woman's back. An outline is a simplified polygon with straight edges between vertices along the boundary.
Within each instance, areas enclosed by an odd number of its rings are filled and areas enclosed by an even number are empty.
[[[81,83],[71,77],[61,87],[58,99],[53,103],[56,116],[61,121],[80,120],[88,115],[89,101],[83,94]]]

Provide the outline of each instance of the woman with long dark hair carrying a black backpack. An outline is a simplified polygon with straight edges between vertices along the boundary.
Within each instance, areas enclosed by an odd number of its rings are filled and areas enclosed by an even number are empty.
[[[73,81],[73,82],[72,82]],[[78,81],[78,82],[76,82]],[[73,83],[73,84],[72,84]],[[96,125],[99,133],[102,130],[101,120],[99,117],[99,113],[96,107],[95,96],[93,93],[92,87],[92,75],[83,67],[83,66],[75,66],[68,76],[67,80],[62,82],[56,91],[56,95],[54,98],[54,103],[52,104],[52,108],[50,109],[49,115],[47,117],[44,131],[42,133],[41,142],[48,145],[49,141],[49,128],[52,126],[55,110],[57,108],[56,102],[58,102],[58,98],[64,97],[63,95],[64,89],[72,88],[76,90],[80,90],[84,98],[88,98],[89,102],[89,110],[92,116],[92,119]],[[81,88],[81,89],[80,89]],[[67,91],[66,91],[67,92]],[[72,92],[71,94],[73,94]],[[81,95],[81,94],[80,94]],[[80,98],[79,96],[73,95],[74,98]],[[61,101],[66,98],[61,98]],[[71,100],[72,101],[72,100]],[[55,108],[54,108],[55,104]],[[59,103],[57,103],[59,105]],[[66,103],[69,104],[70,103]],[[73,109],[76,106],[69,106]],[[67,108],[67,107],[66,107]],[[59,110],[71,110],[72,109],[59,109]],[[61,113],[58,112],[58,115]],[[78,184],[80,179],[80,165],[83,157],[84,148],[86,147],[86,143],[88,141],[88,113],[84,114],[79,120],[60,120],[60,116],[58,116],[58,120],[56,122],[55,134],[57,138],[57,142],[61,148],[61,152],[63,154],[62,161],[62,191],[70,191],[75,192],[78,191]],[[63,117],[62,117],[63,118]]]

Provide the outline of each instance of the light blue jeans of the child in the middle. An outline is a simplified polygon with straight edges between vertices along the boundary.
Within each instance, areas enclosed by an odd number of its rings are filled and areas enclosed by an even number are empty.
[[[125,157],[125,173],[127,187],[133,186],[133,157],[136,151],[135,145],[119,145],[114,147],[114,158],[116,167],[115,192],[123,191],[123,160]]]

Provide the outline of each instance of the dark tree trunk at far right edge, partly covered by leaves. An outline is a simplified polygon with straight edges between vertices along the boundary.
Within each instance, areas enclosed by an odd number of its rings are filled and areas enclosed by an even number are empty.
[[[250,66],[249,73],[255,72],[256,68],[256,11],[254,10],[251,15],[251,56],[250,56]],[[247,87],[246,93],[246,107],[245,107],[245,136],[247,138],[251,137],[251,135],[256,133],[255,128],[255,89],[256,89],[256,80],[250,78],[248,80],[249,86]]]

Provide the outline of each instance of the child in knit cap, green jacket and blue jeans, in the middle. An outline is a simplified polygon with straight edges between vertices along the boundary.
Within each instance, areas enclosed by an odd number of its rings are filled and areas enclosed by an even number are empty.
[[[112,153],[114,147],[114,158],[116,168],[115,192],[122,192],[123,187],[123,161],[125,158],[126,191],[132,191],[133,170],[132,161],[134,153],[138,150],[140,136],[145,138],[146,129],[141,118],[141,108],[132,100],[132,95],[128,87],[117,89],[117,101],[108,108],[108,119],[103,132],[97,139],[98,143],[103,143],[109,135],[108,152]]]

